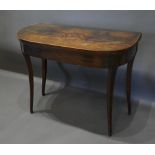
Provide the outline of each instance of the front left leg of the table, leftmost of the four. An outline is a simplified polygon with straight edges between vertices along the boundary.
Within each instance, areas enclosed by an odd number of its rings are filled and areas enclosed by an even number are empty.
[[[28,68],[28,74],[29,74],[29,84],[30,84],[30,113],[33,113],[33,95],[34,95],[34,80],[33,80],[33,69],[32,69],[32,63],[29,55],[24,55],[27,68]]]

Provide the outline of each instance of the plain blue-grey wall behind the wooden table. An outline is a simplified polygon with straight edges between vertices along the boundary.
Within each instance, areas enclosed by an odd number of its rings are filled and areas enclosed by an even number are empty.
[[[140,31],[132,83],[134,99],[155,100],[155,11],[0,11],[0,68],[27,73],[16,33],[35,23],[111,28]],[[34,72],[40,76],[40,61],[33,58]],[[105,92],[106,70],[63,64],[71,76],[70,85]],[[115,94],[124,96],[126,66],[117,72]],[[64,82],[65,77],[54,61],[48,63],[48,79]]]

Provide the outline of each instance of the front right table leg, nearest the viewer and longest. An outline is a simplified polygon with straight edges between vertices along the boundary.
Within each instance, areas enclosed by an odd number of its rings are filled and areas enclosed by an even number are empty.
[[[108,118],[108,135],[112,135],[112,102],[113,102],[113,90],[117,68],[108,69],[108,81],[107,81],[107,118]]]

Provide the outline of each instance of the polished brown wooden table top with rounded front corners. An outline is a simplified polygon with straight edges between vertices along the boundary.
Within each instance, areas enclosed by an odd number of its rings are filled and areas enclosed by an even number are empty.
[[[45,23],[25,27],[17,33],[18,39],[23,41],[96,52],[123,51],[133,47],[141,35],[139,32]]]

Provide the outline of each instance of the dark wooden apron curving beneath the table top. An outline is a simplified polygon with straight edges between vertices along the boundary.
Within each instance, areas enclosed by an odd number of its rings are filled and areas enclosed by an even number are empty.
[[[22,51],[32,57],[52,59],[59,62],[95,68],[118,67],[128,63],[136,54],[136,46],[122,52],[95,53],[55,46],[47,46],[29,42],[22,42]]]

